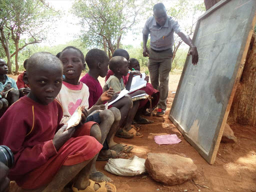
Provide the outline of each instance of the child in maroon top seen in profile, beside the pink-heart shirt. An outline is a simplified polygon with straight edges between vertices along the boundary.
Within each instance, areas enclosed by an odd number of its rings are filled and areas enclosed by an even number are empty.
[[[98,76],[104,77],[106,75],[109,58],[103,50],[93,48],[87,52],[85,56],[85,61],[87,63],[89,71],[80,79],[80,81],[85,83],[89,88],[89,108],[90,108],[93,104],[96,103],[96,101],[99,99],[100,95],[103,92],[102,87],[99,81],[97,80],[97,78]],[[116,96],[117,94],[114,95],[112,99],[114,99]],[[108,102],[110,102],[111,100],[109,100]],[[120,125],[124,122],[124,120],[128,116],[130,108],[132,107],[132,100],[130,96],[124,96],[118,101],[114,102],[111,106],[108,106],[108,108],[112,106],[118,108],[121,113],[121,119],[118,125],[118,127],[120,127]],[[133,137],[133,134],[130,134],[123,129],[118,129],[115,135],[123,138]],[[133,148],[132,146],[117,144],[116,142],[113,141],[113,137],[111,138],[107,137],[107,143],[108,143],[109,149],[111,150],[117,149],[117,150],[123,150],[128,152]]]

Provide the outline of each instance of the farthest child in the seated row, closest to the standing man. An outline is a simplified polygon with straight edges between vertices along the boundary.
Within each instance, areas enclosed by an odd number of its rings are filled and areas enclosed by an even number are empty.
[[[129,69],[130,70],[138,70],[140,71],[140,66],[139,66],[139,62],[137,59],[135,58],[130,58],[129,59]],[[133,68],[133,69],[132,69]],[[147,94],[149,94],[150,96],[153,97],[153,99],[151,100],[151,105],[152,105],[152,108],[154,108],[157,103],[158,103],[158,100],[159,100],[159,96],[160,96],[160,93],[158,90],[156,90],[155,88],[153,88],[152,84],[150,84],[148,82],[149,80],[149,76],[146,75],[145,76],[145,80],[147,81],[146,83],[146,86],[145,87],[142,87],[140,88],[139,90],[144,90]],[[142,109],[142,114],[145,115],[145,116],[150,116],[150,112],[148,112],[146,110],[146,108],[149,108],[150,107],[150,103],[149,101],[146,103],[146,105],[144,106],[144,108]],[[149,109],[150,110],[150,109]],[[144,118],[140,118],[140,119],[135,119],[135,122],[137,123],[145,123],[144,122]]]

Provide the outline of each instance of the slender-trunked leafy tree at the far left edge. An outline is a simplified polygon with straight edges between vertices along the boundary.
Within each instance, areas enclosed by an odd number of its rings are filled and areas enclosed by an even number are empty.
[[[41,42],[47,28],[42,23],[52,20],[57,12],[44,0],[0,0],[0,41],[11,73],[11,57],[15,55],[15,74],[18,72],[18,52],[28,44]],[[21,40],[21,36],[26,38]],[[11,49],[14,44],[15,49]]]

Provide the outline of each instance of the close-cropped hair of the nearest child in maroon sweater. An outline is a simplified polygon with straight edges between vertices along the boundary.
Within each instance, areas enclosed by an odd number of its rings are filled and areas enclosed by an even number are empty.
[[[49,52],[36,52],[27,59],[26,71],[34,70],[40,65],[60,66],[62,68],[61,61],[53,54]],[[50,70],[50,67],[49,67]]]

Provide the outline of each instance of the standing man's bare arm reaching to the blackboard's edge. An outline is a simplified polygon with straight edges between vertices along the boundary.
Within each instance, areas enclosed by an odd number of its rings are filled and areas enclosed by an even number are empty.
[[[198,62],[198,52],[196,46],[192,43],[191,38],[184,33],[183,31],[179,31],[177,35],[188,45],[190,46],[190,50],[188,51],[187,55],[192,55],[192,64],[195,65]],[[144,39],[143,39],[144,42]],[[144,49],[143,49],[144,51]]]

